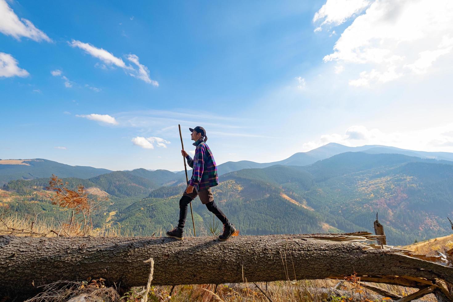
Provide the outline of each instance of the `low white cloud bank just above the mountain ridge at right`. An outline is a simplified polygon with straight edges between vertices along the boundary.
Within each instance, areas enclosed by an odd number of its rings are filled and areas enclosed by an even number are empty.
[[[366,144],[379,144],[411,150],[439,151],[444,148],[451,152],[453,147],[453,124],[426,129],[383,132],[379,129],[367,129],[363,125],[354,125],[344,134],[323,134],[317,140],[303,144],[304,151],[312,150],[328,143],[338,143],[350,147]],[[449,148],[449,149],[448,149]]]

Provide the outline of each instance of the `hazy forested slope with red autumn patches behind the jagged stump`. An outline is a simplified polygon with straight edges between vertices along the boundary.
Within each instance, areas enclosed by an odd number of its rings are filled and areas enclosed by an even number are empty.
[[[368,229],[379,212],[390,244],[402,244],[451,233],[452,185],[452,165],[409,162],[331,177],[304,198],[316,211]]]

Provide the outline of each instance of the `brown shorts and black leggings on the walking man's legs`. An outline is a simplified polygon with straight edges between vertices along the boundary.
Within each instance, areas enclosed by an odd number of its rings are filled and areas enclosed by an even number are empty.
[[[206,205],[207,209],[212,212],[217,218],[222,221],[222,223],[225,225],[228,223],[228,219],[226,218],[225,214],[223,214],[222,210],[220,210],[216,203],[214,202],[214,198],[212,197],[211,189],[208,188],[206,191],[201,190],[199,193],[193,189],[193,192],[190,194],[187,194],[184,192],[183,197],[179,200],[179,221],[178,221],[178,227],[183,228],[184,224],[186,223],[186,217],[187,217],[187,207],[197,195],[199,195],[200,199],[202,200],[202,203]]]

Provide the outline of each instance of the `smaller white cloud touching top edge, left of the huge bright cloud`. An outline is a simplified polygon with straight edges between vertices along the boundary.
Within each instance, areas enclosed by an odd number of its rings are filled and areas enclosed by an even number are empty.
[[[314,14],[313,22],[324,19],[321,26],[324,24],[340,25],[353,15],[361,13],[370,5],[370,0],[327,0],[316,14]],[[316,31],[321,31],[318,27]]]

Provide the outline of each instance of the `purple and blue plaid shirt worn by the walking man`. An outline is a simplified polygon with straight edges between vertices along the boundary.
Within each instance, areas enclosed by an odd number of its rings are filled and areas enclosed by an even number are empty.
[[[192,178],[190,178],[188,184],[195,187],[197,191],[217,186],[219,177],[211,149],[201,139],[198,139],[193,145],[197,147],[195,156],[193,159],[189,155],[186,156],[189,167],[193,168]]]

